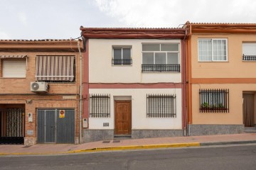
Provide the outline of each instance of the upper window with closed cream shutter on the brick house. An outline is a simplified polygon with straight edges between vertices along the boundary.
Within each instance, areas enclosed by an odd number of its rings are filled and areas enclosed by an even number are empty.
[[[1,77],[25,78],[27,55],[1,55]]]

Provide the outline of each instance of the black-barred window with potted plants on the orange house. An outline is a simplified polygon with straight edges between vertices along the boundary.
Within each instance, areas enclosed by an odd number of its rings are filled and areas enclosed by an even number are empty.
[[[199,89],[200,112],[229,112],[228,89]]]

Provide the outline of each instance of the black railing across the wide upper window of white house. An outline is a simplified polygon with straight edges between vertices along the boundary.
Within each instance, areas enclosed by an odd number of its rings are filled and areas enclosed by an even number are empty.
[[[181,72],[180,64],[142,64],[142,72]]]

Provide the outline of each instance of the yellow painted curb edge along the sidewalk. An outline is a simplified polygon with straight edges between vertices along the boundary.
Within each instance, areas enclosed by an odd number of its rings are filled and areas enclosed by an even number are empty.
[[[133,145],[133,146],[119,146],[119,147],[95,147],[92,149],[80,149],[68,152],[55,152],[55,153],[0,153],[0,156],[4,155],[43,155],[43,154],[75,154],[80,152],[100,152],[100,151],[113,151],[113,150],[132,150],[132,149],[154,149],[154,148],[168,148],[168,147],[200,147],[199,142],[191,143],[175,143],[175,144],[160,144],[160,145]]]

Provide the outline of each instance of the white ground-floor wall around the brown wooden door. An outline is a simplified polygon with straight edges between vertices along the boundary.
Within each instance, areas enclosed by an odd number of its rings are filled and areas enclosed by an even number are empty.
[[[89,118],[91,130],[114,129],[113,98],[117,96],[132,98],[132,130],[181,130],[181,89],[90,89],[89,93],[110,94],[110,118]],[[146,118],[146,94],[176,94],[176,118]]]

